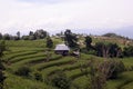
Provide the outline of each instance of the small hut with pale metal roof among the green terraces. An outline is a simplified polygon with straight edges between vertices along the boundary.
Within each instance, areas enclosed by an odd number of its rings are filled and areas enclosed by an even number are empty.
[[[63,55],[63,56],[68,55],[69,51],[70,51],[70,48],[69,48],[66,44],[64,44],[64,43],[62,43],[62,44],[57,44],[57,46],[55,46],[55,49],[54,49],[54,52],[55,52],[55,53],[58,53],[58,55]]]

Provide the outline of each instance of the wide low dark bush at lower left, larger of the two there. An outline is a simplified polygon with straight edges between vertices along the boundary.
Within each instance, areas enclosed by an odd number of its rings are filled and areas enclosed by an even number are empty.
[[[31,69],[27,66],[18,68],[18,70],[14,72],[18,76],[29,77],[31,72]]]

